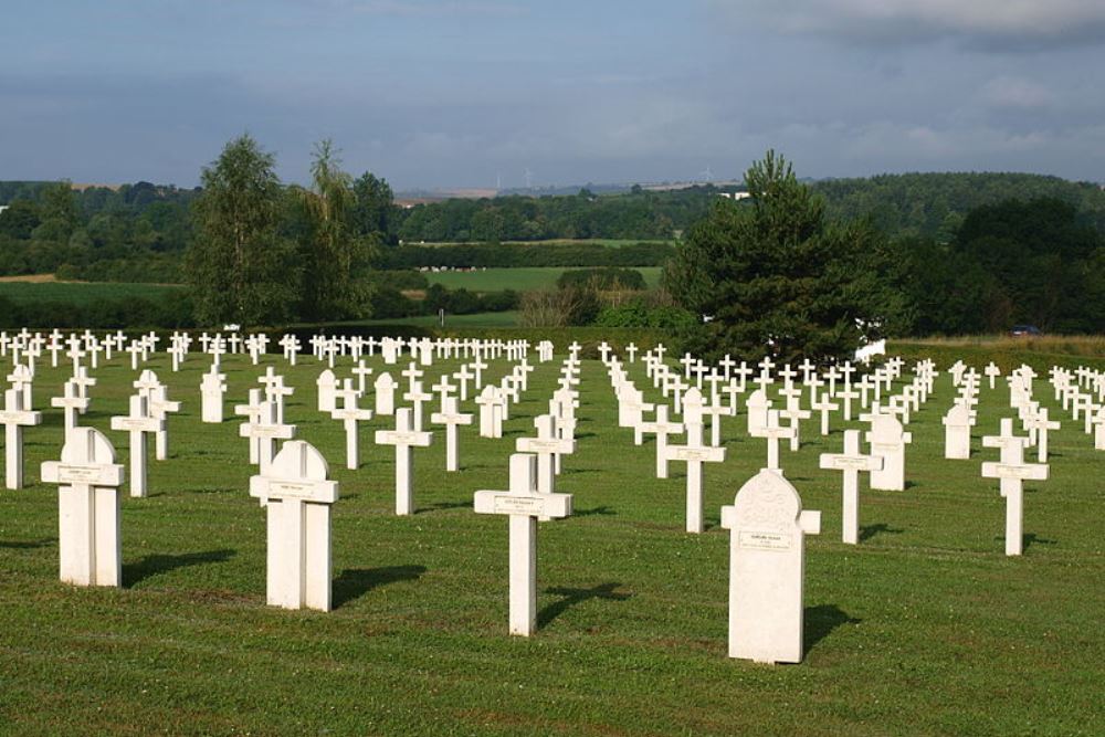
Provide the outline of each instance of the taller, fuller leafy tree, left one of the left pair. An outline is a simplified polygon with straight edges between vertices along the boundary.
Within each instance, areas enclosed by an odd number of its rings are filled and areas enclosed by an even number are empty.
[[[245,134],[200,176],[187,275],[201,324],[274,324],[292,314],[295,271],[280,233],[285,199],[275,162]]]

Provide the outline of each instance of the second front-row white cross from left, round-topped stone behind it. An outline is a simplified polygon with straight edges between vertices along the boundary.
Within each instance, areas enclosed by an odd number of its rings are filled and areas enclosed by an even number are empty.
[[[330,505],[322,453],[302,440],[284,443],[269,468],[250,478],[250,495],[266,505],[266,600],[284,609],[330,610]]]

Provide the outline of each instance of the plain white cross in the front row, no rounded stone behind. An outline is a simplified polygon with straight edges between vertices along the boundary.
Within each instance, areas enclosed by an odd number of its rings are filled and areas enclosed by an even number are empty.
[[[511,484],[506,492],[478,491],[476,514],[508,515],[511,519],[511,634],[528,638],[537,629],[537,519],[571,515],[571,494],[537,491],[537,459],[525,453],[511,456]]]

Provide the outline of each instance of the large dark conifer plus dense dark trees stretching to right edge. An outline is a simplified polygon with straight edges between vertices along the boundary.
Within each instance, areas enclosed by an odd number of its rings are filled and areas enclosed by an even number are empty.
[[[716,203],[665,271],[701,355],[828,361],[886,336],[1105,326],[1105,236],[1069,201],[1008,199],[946,236],[890,238],[833,215],[774,151],[745,181],[750,197]]]

